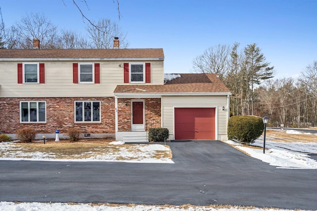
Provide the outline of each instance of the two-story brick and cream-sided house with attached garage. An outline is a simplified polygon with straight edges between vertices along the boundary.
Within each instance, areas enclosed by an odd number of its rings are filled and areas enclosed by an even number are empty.
[[[171,140],[226,140],[230,91],[215,74],[167,74],[162,49],[0,50],[0,130],[15,137],[147,141],[150,127]]]

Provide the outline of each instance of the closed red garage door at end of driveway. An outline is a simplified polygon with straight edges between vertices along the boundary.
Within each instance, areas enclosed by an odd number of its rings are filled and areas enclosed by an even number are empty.
[[[175,139],[215,139],[214,108],[175,108]]]

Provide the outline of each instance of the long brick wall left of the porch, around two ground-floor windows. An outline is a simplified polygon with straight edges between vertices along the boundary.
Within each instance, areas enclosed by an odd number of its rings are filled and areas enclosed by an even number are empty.
[[[20,123],[20,101],[45,101],[46,123]],[[100,101],[101,122],[74,122],[74,101]],[[82,133],[115,133],[114,98],[0,98],[0,131],[14,134],[16,130],[32,127],[37,133],[65,133],[77,128]]]

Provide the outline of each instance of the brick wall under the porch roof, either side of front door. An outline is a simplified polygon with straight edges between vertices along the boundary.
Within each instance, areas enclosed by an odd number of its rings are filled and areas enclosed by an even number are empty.
[[[118,99],[118,132],[131,131],[131,98]],[[147,98],[145,100],[145,120],[149,127],[160,127],[161,100]],[[126,104],[126,105],[125,105]]]

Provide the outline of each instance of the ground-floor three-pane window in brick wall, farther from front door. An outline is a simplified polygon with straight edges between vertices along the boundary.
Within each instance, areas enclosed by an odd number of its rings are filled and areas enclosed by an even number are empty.
[[[20,122],[46,122],[46,102],[21,101]]]

